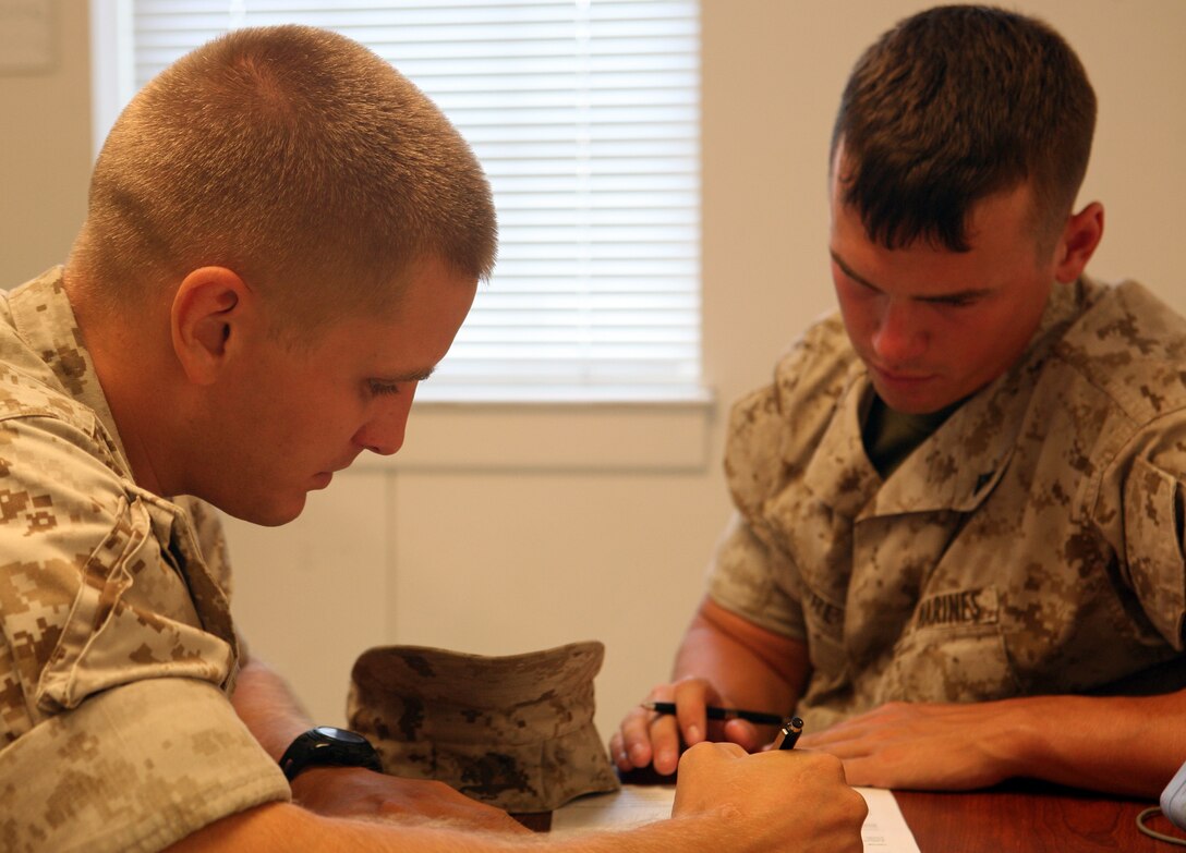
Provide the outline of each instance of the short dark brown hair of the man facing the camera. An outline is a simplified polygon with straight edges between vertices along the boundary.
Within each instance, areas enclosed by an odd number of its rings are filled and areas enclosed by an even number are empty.
[[[967,251],[970,209],[1029,181],[1041,252],[1075,204],[1095,120],[1083,65],[1050,26],[1000,8],[940,6],[900,21],[857,60],[831,166],[844,169],[844,203],[890,249],[925,240]]]

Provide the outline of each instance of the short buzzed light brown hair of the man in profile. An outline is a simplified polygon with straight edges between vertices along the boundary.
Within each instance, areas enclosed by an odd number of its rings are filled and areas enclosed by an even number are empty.
[[[416,86],[343,36],[280,26],[218,38],[133,98],[71,263],[108,306],[227,267],[308,328],[393,307],[425,257],[487,277],[496,242],[482,167]]]

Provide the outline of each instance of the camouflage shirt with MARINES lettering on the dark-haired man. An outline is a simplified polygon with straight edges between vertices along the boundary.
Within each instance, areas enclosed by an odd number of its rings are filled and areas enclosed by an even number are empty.
[[[805,640],[812,730],[891,700],[1182,685],[1186,321],[1131,282],[1056,286],[1018,364],[885,482],[871,398],[831,316],[731,422],[709,594]]]

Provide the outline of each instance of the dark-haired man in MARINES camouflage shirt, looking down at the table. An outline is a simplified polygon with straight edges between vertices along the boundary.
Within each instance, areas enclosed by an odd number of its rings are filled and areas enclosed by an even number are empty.
[[[830,158],[840,314],[734,409],[737,514],[623,770],[706,704],[792,710],[853,784],[1010,776],[1154,795],[1186,753],[1186,322],[1084,267],[1096,102],[1045,24],[901,21],[857,62]]]

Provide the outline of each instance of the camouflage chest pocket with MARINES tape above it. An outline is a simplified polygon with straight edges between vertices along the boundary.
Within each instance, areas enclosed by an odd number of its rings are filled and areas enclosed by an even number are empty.
[[[1001,631],[996,589],[963,589],[922,599],[874,692],[874,704],[977,701],[1020,693]]]

